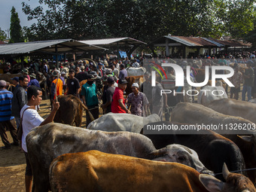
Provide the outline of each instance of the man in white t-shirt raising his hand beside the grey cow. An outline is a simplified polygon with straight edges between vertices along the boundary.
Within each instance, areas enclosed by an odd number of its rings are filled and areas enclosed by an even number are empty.
[[[56,111],[59,109],[59,102],[53,101],[53,110],[49,116],[44,120],[35,110],[35,106],[40,105],[42,91],[41,88],[30,86],[28,88],[28,102],[20,111],[20,116],[23,116],[23,136],[22,136],[22,148],[26,157],[26,173],[25,173],[25,184],[26,192],[32,191],[32,168],[28,159],[28,151],[26,148],[26,136],[35,126],[42,126],[47,123],[53,122]]]

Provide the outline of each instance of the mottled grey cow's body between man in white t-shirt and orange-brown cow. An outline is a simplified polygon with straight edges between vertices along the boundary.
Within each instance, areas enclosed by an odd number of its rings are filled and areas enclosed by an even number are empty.
[[[139,133],[86,130],[60,123],[35,127],[26,136],[26,145],[34,175],[33,184],[35,191],[39,192],[50,189],[48,172],[50,163],[62,154],[98,150],[110,154],[160,160],[160,156],[154,155],[156,148],[151,140]],[[174,155],[177,159],[182,155],[181,161],[184,157],[188,157],[184,152]],[[168,151],[163,160],[168,160],[167,156],[172,157],[172,151]],[[193,156],[193,153],[190,156]],[[187,160],[187,163],[190,163],[190,160]],[[210,172],[199,163],[199,160],[191,165],[202,172]]]

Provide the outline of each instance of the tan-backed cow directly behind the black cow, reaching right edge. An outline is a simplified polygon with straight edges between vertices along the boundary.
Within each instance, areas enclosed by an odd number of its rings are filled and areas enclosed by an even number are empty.
[[[192,124],[220,124],[223,125],[224,128],[227,126],[245,125],[255,130],[255,125],[250,120],[245,120],[242,117],[221,114],[212,110],[212,108],[207,108],[199,104],[178,103],[172,111],[171,118],[173,122],[176,121],[180,123]],[[218,131],[221,132],[221,130]],[[237,136],[235,133],[239,134],[239,136]],[[224,129],[221,135],[232,140],[239,147],[245,159],[246,168],[250,169],[256,167],[256,135],[254,131]],[[248,171],[248,177],[251,179],[251,181],[256,183],[255,170]]]

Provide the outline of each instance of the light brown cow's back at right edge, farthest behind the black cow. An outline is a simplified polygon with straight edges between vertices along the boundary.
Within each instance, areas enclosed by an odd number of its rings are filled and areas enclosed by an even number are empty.
[[[219,99],[210,102],[207,107],[221,114],[242,117],[256,123],[256,105],[251,104],[251,102],[236,99]]]

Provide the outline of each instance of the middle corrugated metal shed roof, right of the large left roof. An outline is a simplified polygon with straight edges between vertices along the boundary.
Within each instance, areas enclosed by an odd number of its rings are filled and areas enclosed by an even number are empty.
[[[111,45],[124,45],[124,44],[146,44],[145,42],[136,40],[134,38],[102,38],[102,39],[93,39],[80,41],[85,44],[94,44],[102,46],[111,46]]]

